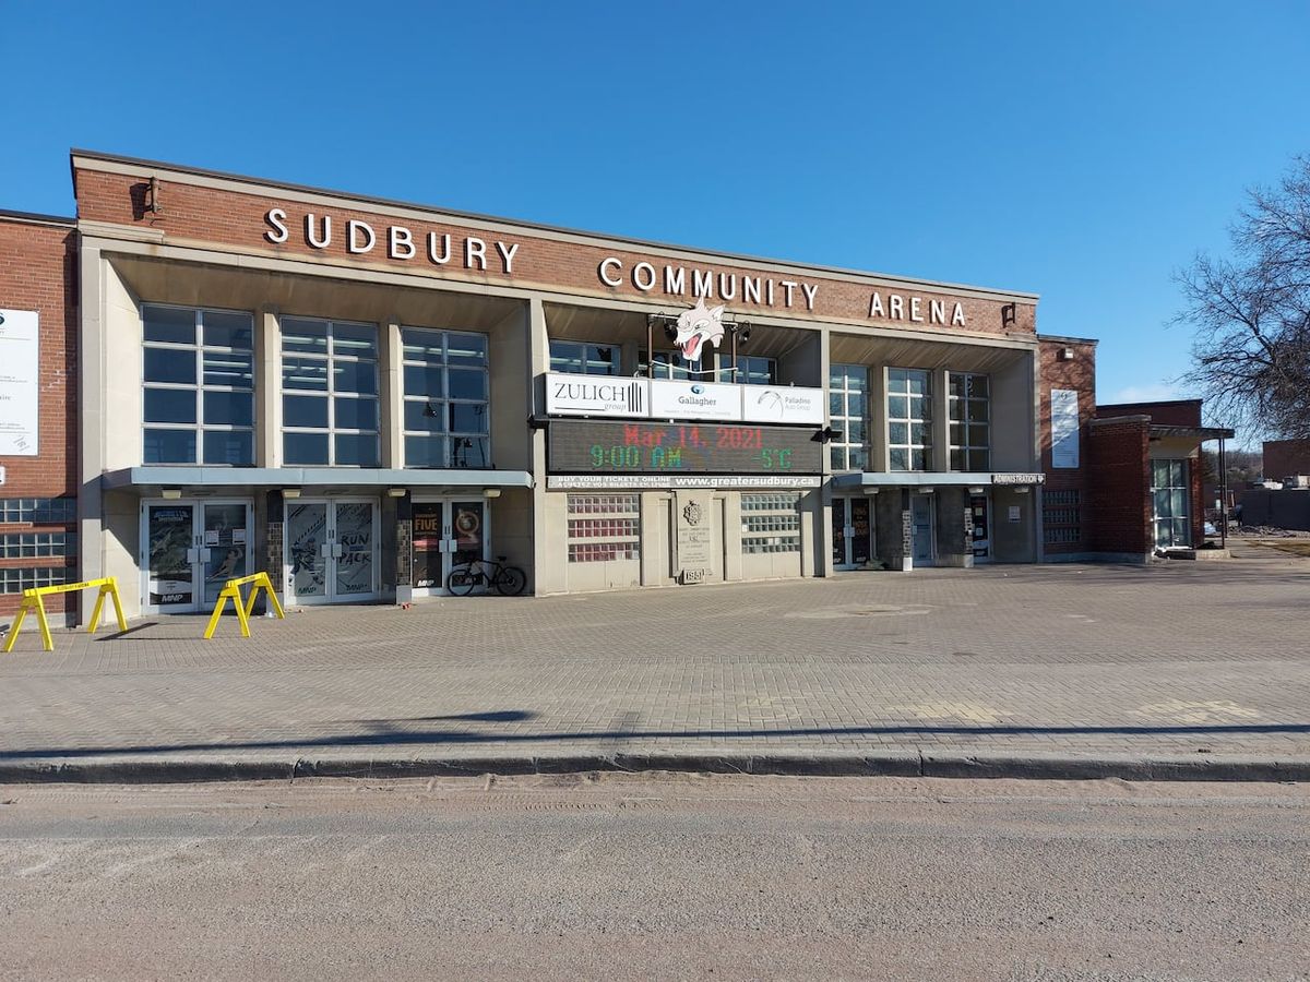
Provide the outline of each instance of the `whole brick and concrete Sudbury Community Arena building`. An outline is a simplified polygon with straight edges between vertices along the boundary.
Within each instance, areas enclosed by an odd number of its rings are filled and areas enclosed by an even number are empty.
[[[0,213],[0,613],[109,575],[196,611],[259,570],[292,606],[406,602],[496,556],[538,594],[1140,562],[1157,500],[1196,543],[1191,461],[1230,435],[1138,418],[1182,464],[1121,466],[1095,342],[1039,335],[1034,293],[72,175],[76,219]]]

